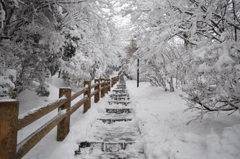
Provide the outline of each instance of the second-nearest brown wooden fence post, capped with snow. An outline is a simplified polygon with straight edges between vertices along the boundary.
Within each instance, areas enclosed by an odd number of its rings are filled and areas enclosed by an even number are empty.
[[[65,96],[68,101],[59,107],[58,111],[66,110],[67,116],[57,126],[57,141],[63,141],[70,129],[71,88],[60,88],[59,98]]]

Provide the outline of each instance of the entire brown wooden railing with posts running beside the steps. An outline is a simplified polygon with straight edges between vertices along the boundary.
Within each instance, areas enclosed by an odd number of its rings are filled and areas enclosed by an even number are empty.
[[[82,105],[85,113],[91,108],[91,97],[97,103],[119,80],[119,75],[111,79],[84,81],[84,88],[71,95],[71,88],[60,88],[59,99],[18,119],[19,103],[16,100],[0,101],[0,159],[20,159],[30,151],[46,134],[57,126],[57,141],[63,141],[70,131],[70,116]],[[93,91],[91,91],[94,89]],[[76,104],[71,101],[83,94]],[[37,129],[26,139],[17,142],[18,130],[28,126],[44,115],[58,108],[58,115]]]

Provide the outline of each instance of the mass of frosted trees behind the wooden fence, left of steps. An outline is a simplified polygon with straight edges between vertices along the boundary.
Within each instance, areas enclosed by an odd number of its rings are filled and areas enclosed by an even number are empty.
[[[35,89],[48,95],[48,78],[60,68],[76,84],[74,80],[93,79],[118,64],[115,28],[110,15],[101,10],[111,8],[110,1],[0,0],[0,4],[5,19],[0,76],[8,69],[16,71],[11,89],[16,94]]]

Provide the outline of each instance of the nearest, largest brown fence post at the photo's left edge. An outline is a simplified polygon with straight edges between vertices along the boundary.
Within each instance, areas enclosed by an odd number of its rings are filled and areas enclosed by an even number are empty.
[[[16,100],[0,101],[0,159],[16,159],[18,108]]]

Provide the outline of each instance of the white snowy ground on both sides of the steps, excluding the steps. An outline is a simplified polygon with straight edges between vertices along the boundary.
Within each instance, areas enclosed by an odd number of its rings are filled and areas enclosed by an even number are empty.
[[[26,91],[19,97],[20,112],[44,105],[58,98],[58,88],[64,86],[57,78],[53,79],[48,98],[38,98]],[[185,101],[177,90],[164,92],[162,88],[152,87],[149,83],[127,81],[131,101],[136,107],[136,118],[144,140],[143,146],[147,159],[239,159],[240,158],[240,115],[228,116],[227,113],[211,114],[202,121],[195,120],[195,112],[184,112]],[[30,100],[31,99],[31,100]],[[82,114],[82,107],[71,116],[71,131],[63,142],[56,141],[56,128],[43,138],[23,159],[74,159],[77,143],[85,141],[91,124],[106,98]],[[52,118],[57,112],[36,121],[18,133],[21,141],[41,123]]]

